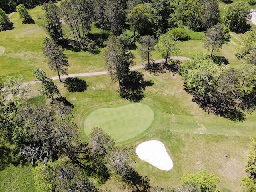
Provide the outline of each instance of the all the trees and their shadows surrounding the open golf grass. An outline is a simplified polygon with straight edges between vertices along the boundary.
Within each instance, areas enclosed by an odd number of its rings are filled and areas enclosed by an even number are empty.
[[[204,110],[244,121],[244,113],[256,109],[256,28],[247,23],[250,7],[244,2],[231,3],[221,20],[218,0],[64,0],[60,6],[46,1],[6,0],[0,2],[0,31],[12,30],[5,12],[14,9],[24,24],[33,24],[26,8],[37,4],[43,4],[50,36],[43,42],[44,56],[50,69],[58,73],[60,82],[60,74],[67,74],[69,66],[63,49],[98,54],[98,48],[105,47],[106,68],[111,79],[118,82],[120,96],[131,102],[142,100],[143,91],[152,82],[146,81],[141,72],[129,70],[134,63],[132,50],[139,42],[146,70],[152,74],[179,73],[186,92]],[[90,34],[93,24],[101,29],[100,36]],[[72,32],[68,38],[64,37],[63,26]],[[181,65],[171,56],[179,53],[178,41],[190,38],[184,26],[205,31],[204,46],[211,54],[194,56]],[[133,36],[126,34],[126,29]],[[237,58],[244,64],[237,68],[226,65],[225,58],[216,60],[213,54],[229,41],[230,30],[245,33],[237,52]],[[154,49],[161,52],[164,62],[152,61]],[[134,168],[133,148],[117,148],[101,128],[94,128],[88,139],[81,142],[80,130],[73,122],[72,104],[60,95],[44,70],[36,68],[33,75],[42,82],[38,91],[49,100],[48,104],[30,102],[29,89],[22,86],[21,76],[0,79],[0,169],[31,162],[38,192],[100,192],[98,186],[111,177],[134,192],[217,191],[219,178],[206,171],[184,174],[179,188],[151,187],[150,178],[140,176]],[[64,83],[70,92],[84,91],[87,86],[78,78],[67,78]],[[248,174],[241,181],[244,191],[256,188],[254,161],[255,140],[246,168]]]

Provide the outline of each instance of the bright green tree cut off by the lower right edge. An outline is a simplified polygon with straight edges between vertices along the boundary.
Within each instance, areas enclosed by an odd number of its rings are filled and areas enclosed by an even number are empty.
[[[240,181],[240,185],[244,186],[242,192],[252,192],[256,190],[256,140],[251,138],[249,156],[245,167],[246,176]]]

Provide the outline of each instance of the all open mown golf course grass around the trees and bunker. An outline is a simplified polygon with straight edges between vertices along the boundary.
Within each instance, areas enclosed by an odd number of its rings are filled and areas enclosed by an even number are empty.
[[[44,20],[38,19],[37,14],[42,16],[43,11],[40,6],[28,11],[36,24],[23,25],[18,14],[14,14],[10,18],[14,23],[14,30],[0,32],[0,48],[5,48],[0,57],[0,75],[6,77],[22,74],[29,81],[33,80],[32,70],[40,67],[46,70],[47,76],[56,76],[55,72],[49,70],[42,53],[42,41],[47,34],[43,28]],[[99,30],[93,28],[93,32]],[[232,66],[237,66],[241,63],[235,57],[241,34],[231,35],[230,42],[214,54],[225,56]],[[192,58],[194,54],[209,54],[204,49],[203,33],[190,32],[190,36],[192,40],[179,42],[180,56]],[[141,64],[138,49],[133,52],[136,55],[135,64]],[[102,52],[92,55],[89,52],[65,50],[64,53],[70,63],[69,74],[106,70]],[[155,60],[161,58],[157,50],[152,55]],[[220,177],[219,191],[239,191],[239,181],[245,175],[250,137],[256,137],[256,112],[247,114],[244,122],[231,122],[204,112],[192,102],[192,96],[183,90],[180,76],[173,78],[168,73],[153,76],[143,69],[140,72],[144,73],[146,80],[152,80],[154,85],[146,88],[146,97],[138,104],[130,104],[121,99],[116,92],[118,85],[108,75],[82,78],[86,80],[88,89],[79,93],[66,92],[64,84],[55,81],[62,96],[75,105],[75,121],[82,130],[81,139],[86,139],[86,134],[93,126],[104,128],[106,124],[108,127],[104,129],[110,131],[118,146],[132,145],[135,148],[146,140],[160,140],[174,162],[172,170],[158,170],[134,157],[136,170],[143,176],[148,176],[152,186],[179,186],[179,178],[184,172],[195,173],[206,169]],[[39,84],[32,86],[31,100],[45,102],[42,97],[38,97],[38,87]],[[139,114],[134,113],[134,110],[139,111]],[[122,124],[121,133],[110,130],[112,124],[116,125],[117,122]],[[228,157],[224,157],[224,154],[228,154]],[[33,183],[30,166],[10,166],[0,172],[0,191],[35,191]],[[121,191],[114,179],[101,187],[114,192]]]

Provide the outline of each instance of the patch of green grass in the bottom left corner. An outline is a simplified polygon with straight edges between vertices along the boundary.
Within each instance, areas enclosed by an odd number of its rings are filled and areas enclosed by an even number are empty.
[[[0,171],[1,192],[35,192],[32,166],[11,165]]]

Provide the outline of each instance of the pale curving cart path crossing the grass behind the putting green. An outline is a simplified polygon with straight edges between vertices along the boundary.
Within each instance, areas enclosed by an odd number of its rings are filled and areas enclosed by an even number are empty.
[[[173,56],[171,57],[174,60],[192,60],[190,58],[187,57],[182,57],[182,56]],[[159,59],[156,60],[155,63],[160,63],[165,61],[165,59]],[[138,66],[133,66],[133,67],[129,67],[130,70],[136,70],[136,69],[140,69],[140,68],[144,68],[144,65],[138,65]],[[67,78],[67,77],[83,77],[83,76],[98,76],[98,75],[104,75],[104,74],[108,74],[108,71],[99,71],[99,72],[90,72],[90,73],[75,73],[75,74],[68,74],[68,75],[61,75],[60,78]],[[51,77],[52,80],[57,80],[59,79],[58,76],[54,76]],[[32,84],[36,84],[40,81],[30,81],[30,82],[26,82],[24,84],[22,84],[22,86],[27,86],[27,85],[32,85]]]

